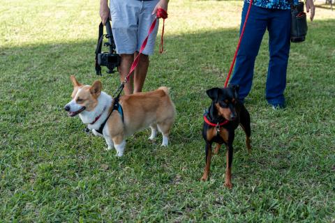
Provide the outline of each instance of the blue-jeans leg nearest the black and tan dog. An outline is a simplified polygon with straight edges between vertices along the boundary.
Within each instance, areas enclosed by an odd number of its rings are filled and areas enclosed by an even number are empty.
[[[240,32],[246,18],[248,6],[248,3],[244,3]],[[242,102],[251,90],[255,59],[258,55],[263,35],[267,29],[267,14],[267,9],[251,6],[248,22],[244,29],[244,36],[237,54],[234,73],[232,79],[230,79],[230,84],[239,85],[239,99]]]

